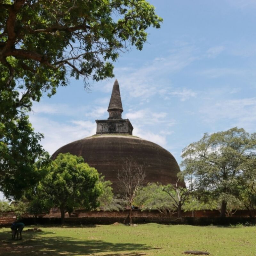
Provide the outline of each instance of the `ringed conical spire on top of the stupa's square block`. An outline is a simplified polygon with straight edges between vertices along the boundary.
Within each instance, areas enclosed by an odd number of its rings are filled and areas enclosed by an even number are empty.
[[[122,119],[122,112],[123,112],[122,100],[120,96],[119,84],[116,79],[113,85],[112,94],[111,94],[111,98],[108,105],[108,113],[109,113],[108,119]]]

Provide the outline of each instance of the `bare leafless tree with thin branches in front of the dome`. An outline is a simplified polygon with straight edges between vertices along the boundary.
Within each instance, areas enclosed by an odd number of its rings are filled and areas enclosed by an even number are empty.
[[[133,158],[126,158],[121,170],[118,170],[117,179],[119,181],[120,192],[129,203],[129,214],[124,223],[130,221],[132,224],[132,205],[137,192],[145,180],[146,173],[144,165],[138,164]]]

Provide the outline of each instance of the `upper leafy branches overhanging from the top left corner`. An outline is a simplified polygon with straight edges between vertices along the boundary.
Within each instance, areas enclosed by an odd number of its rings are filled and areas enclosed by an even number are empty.
[[[145,0],[5,0],[0,7],[2,85],[11,89],[15,80],[24,91],[12,95],[20,107],[54,94],[70,75],[85,84],[112,77],[110,61],[129,44],[142,50],[145,30],[162,22]]]

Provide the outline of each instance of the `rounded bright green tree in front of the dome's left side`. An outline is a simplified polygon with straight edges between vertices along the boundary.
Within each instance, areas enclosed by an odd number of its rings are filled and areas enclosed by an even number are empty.
[[[78,207],[88,210],[99,206],[98,197],[102,193],[99,173],[84,163],[83,157],[59,154],[48,169],[43,185],[54,206],[60,207],[61,223],[65,221],[65,211]]]

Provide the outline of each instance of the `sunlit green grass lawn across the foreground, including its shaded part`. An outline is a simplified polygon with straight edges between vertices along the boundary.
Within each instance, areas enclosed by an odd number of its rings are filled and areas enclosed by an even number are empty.
[[[208,251],[218,256],[256,255],[256,227],[197,227],[144,224],[135,227],[97,225],[40,227],[12,241],[11,229],[0,228],[0,255],[184,256],[184,251]]]

